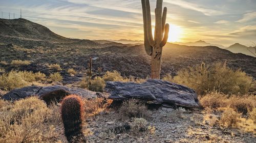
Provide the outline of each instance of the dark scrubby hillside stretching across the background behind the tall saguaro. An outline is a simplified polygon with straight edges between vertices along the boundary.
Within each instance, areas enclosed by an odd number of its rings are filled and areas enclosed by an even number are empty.
[[[136,77],[150,75],[151,58],[145,53],[143,45],[69,39],[26,19],[1,19],[1,21],[1,26],[6,28],[1,29],[0,61],[8,63],[12,60],[33,61],[31,66],[23,66],[19,69],[41,70],[49,75],[51,71],[47,68],[47,64],[59,63],[63,69],[62,74],[67,74],[66,70],[69,68],[82,72],[87,68],[89,58],[93,57],[94,72],[101,67],[103,72],[117,70],[124,74],[124,71],[128,70],[129,75]],[[17,22],[26,24],[17,24]],[[21,27],[21,30],[18,27]],[[229,67],[241,68],[255,78],[255,60],[252,56],[232,53],[216,46],[200,47],[167,43],[163,48],[161,76],[167,73],[176,75],[180,69],[202,62],[212,64],[226,61]],[[11,66],[6,68],[7,71],[13,69]]]

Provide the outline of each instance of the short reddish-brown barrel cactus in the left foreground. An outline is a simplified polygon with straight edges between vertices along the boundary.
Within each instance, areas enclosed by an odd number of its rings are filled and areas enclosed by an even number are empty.
[[[79,96],[65,97],[61,105],[61,118],[65,128],[65,136],[69,142],[84,139],[82,133],[83,102]]]

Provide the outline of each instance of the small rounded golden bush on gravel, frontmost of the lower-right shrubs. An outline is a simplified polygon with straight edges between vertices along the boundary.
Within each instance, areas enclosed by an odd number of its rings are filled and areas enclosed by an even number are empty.
[[[241,115],[232,108],[225,108],[219,123],[225,128],[236,127],[240,116]]]

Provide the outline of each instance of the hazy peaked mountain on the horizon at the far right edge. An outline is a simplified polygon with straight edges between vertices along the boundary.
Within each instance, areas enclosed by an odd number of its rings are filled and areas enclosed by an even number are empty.
[[[246,55],[254,56],[256,57],[256,49],[255,47],[247,47],[245,45],[241,45],[239,43],[233,44],[226,48],[227,50],[233,52],[233,53],[243,53]]]

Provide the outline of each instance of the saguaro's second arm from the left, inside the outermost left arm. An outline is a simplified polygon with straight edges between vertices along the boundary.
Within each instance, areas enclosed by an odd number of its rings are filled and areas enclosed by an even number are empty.
[[[151,46],[155,46],[155,41],[152,36],[152,26],[151,26],[151,11],[150,11],[150,1],[145,0],[146,5],[146,32],[147,32],[147,40]]]

